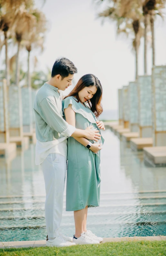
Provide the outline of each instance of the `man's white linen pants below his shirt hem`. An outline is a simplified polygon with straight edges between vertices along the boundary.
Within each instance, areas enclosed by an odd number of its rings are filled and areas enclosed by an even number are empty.
[[[48,237],[57,237],[62,219],[63,192],[66,178],[67,161],[58,153],[49,154],[41,163],[44,175],[46,201],[45,218]]]

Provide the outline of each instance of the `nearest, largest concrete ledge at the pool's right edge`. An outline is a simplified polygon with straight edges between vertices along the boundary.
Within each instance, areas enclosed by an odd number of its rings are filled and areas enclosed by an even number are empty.
[[[144,159],[152,166],[166,165],[166,147],[143,148]]]

